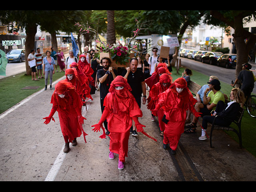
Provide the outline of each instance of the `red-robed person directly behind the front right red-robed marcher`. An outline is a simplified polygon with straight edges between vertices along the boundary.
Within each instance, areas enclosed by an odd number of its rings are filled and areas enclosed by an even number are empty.
[[[172,79],[168,74],[164,73],[160,76],[159,82],[154,84],[149,92],[149,96],[148,96],[149,102],[147,105],[147,108],[149,110],[153,110],[156,107],[156,105],[158,104],[158,95],[166,91],[171,84],[172,84]],[[160,128],[160,136],[164,136],[165,125],[164,125],[164,122],[162,122],[164,111],[162,109],[159,109],[157,112],[157,116],[158,116],[158,124]]]

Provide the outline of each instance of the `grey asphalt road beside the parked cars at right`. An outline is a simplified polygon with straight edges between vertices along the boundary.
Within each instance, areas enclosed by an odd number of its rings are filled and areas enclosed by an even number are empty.
[[[225,83],[231,84],[231,81],[236,80],[236,69],[235,68],[229,68],[226,69],[224,67],[218,67],[216,65],[210,65],[206,63],[202,63],[196,60],[188,59],[188,58],[182,58],[181,59],[181,65],[187,68],[190,68],[192,70],[196,70],[202,74],[211,76],[215,75],[219,78],[220,81],[223,81]],[[255,68],[253,66],[253,68]],[[256,88],[252,91],[256,94]]]

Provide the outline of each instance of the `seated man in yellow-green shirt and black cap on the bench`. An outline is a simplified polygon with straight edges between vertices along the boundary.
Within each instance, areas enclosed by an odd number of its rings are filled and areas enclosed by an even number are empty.
[[[211,115],[211,111],[217,106],[218,101],[222,100],[225,102],[224,94],[220,91],[220,81],[217,79],[214,79],[210,82],[207,82],[209,84],[209,88],[207,88],[204,91],[204,99],[203,103],[196,103],[195,109],[197,112],[201,112],[201,117],[206,115]],[[206,96],[206,93],[211,90]],[[185,128],[188,128],[184,131],[184,133],[194,133],[196,132],[196,124],[197,124],[198,118],[193,116],[193,120],[191,124],[187,125]]]

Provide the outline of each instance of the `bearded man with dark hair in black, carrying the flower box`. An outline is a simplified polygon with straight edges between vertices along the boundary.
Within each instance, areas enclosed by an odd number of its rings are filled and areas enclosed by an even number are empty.
[[[110,88],[111,82],[114,80],[114,78],[116,78],[117,70],[110,67],[111,60],[108,57],[102,58],[100,60],[100,63],[102,64],[103,69],[100,69],[97,71],[97,78],[98,78],[98,81],[100,82],[100,106],[101,106],[101,112],[103,113],[104,99],[108,94],[108,90]],[[104,126],[106,129],[106,135],[108,135],[109,134],[108,123],[106,120],[104,121]]]

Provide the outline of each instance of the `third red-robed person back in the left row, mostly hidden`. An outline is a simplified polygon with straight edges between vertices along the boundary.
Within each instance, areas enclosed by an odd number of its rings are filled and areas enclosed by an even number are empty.
[[[91,88],[89,87],[89,79],[88,79],[88,77],[84,74],[84,72],[82,71],[80,66],[78,66],[78,64],[76,62],[73,62],[70,65],[70,68],[75,68],[76,71],[77,71],[78,78],[79,78],[79,80],[80,80],[80,82],[82,84],[83,90],[84,90],[84,97],[85,98],[90,98],[91,100],[93,100],[92,96],[90,94]]]

